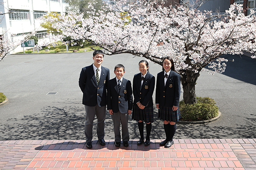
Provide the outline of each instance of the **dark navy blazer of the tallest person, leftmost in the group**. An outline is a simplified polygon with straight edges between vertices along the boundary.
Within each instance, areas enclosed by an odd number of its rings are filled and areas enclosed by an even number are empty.
[[[107,105],[107,85],[110,77],[109,69],[101,67],[99,85],[93,71],[93,64],[82,68],[79,87],[83,92],[83,104],[87,106]]]

